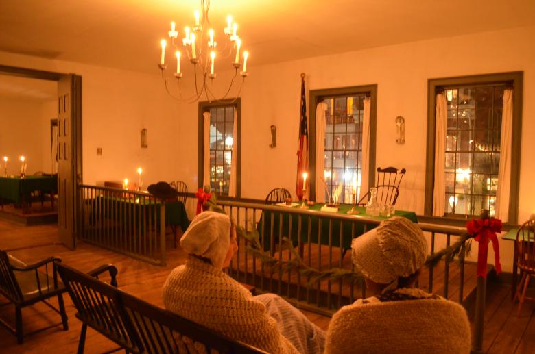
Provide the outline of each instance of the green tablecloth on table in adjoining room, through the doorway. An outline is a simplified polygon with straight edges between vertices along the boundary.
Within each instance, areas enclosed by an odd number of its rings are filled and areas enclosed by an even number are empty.
[[[21,203],[23,199],[29,201],[29,196],[35,190],[40,192],[58,191],[58,176],[27,176],[0,177],[0,199]]]

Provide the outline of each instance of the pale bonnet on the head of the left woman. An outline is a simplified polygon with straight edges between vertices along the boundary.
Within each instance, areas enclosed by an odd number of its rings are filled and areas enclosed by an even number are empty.
[[[199,255],[222,268],[230,248],[230,218],[217,212],[202,212],[195,216],[182,238],[180,246],[187,253]]]

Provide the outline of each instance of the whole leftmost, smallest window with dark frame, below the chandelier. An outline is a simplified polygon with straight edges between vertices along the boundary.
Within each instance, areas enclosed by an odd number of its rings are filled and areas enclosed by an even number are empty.
[[[217,103],[199,103],[200,124],[200,186],[204,179],[204,112],[209,113],[209,184],[218,195],[228,196],[231,184],[236,184],[235,197],[239,197],[239,132],[241,101],[239,99]],[[234,120],[237,120],[234,122]],[[236,123],[236,124],[235,124]],[[237,131],[234,131],[234,128]],[[237,138],[237,142],[234,138]],[[202,148],[202,150],[201,150]],[[236,151],[235,151],[236,149]],[[233,154],[236,156],[233,158]],[[237,164],[232,168],[232,164]],[[236,173],[233,176],[232,173]]]

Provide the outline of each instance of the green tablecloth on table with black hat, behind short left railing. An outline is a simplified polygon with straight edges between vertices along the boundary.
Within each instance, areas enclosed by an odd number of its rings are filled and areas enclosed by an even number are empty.
[[[97,208],[104,209],[104,213],[108,218],[117,216],[124,220],[125,225],[134,220],[139,220],[140,216],[145,216],[145,219],[151,219],[152,225],[160,223],[160,205],[159,201],[154,202],[154,199],[123,199],[116,197],[96,197],[95,199],[86,200],[86,203],[93,203],[93,216],[97,214]],[[107,206],[102,206],[107,205]],[[156,210],[154,210],[156,208]],[[156,220],[154,220],[156,216]],[[154,224],[156,223],[156,224]],[[189,219],[186,213],[186,207],[181,201],[170,201],[165,203],[165,224],[177,225],[186,231],[189,227]]]

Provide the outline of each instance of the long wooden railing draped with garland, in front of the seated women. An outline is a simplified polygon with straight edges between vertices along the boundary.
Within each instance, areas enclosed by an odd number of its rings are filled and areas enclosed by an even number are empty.
[[[366,216],[311,212],[300,208],[259,203],[218,201],[218,204],[224,207],[238,225],[248,231],[256,229],[265,254],[280,261],[294,259],[295,254],[283,246],[283,239],[279,237],[283,236],[292,240],[305,266],[318,270],[331,268],[353,270],[350,259],[351,240],[376,227],[380,221]],[[438,243],[449,246],[456,238],[466,233],[466,229],[457,227],[427,224],[421,224],[420,227],[429,239],[431,253],[437,251]],[[356,299],[366,297],[366,286],[361,282],[323,279],[308,286],[311,277],[305,277],[295,269],[286,271],[278,269],[272,272],[260,262],[257,255],[248,251],[246,240],[239,242],[239,251],[233,258],[229,274],[237,281],[254,286],[260,292],[274,292],[293,303],[298,303],[300,307],[310,307],[326,314],[331,314]],[[441,262],[441,283],[437,283],[435,279],[437,269],[430,269],[425,279],[420,277],[418,286],[429,292],[439,292],[445,298],[451,298],[455,295],[451,291],[451,282],[455,281],[454,291],[458,292],[455,300],[463,303],[464,258],[461,257],[459,260],[454,275],[450,274],[450,268],[450,262]]]

